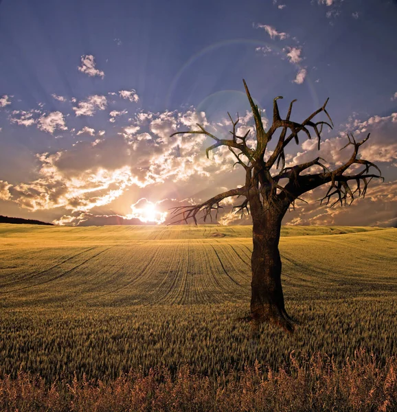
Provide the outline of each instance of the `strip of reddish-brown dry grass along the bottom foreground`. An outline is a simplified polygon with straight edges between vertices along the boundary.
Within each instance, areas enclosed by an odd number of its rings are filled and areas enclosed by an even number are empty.
[[[104,382],[83,376],[53,382],[20,372],[0,380],[1,411],[396,411],[397,361],[381,365],[363,351],[342,367],[319,354],[291,367],[262,370],[259,363],[238,376],[208,378],[181,367],[130,371]]]

